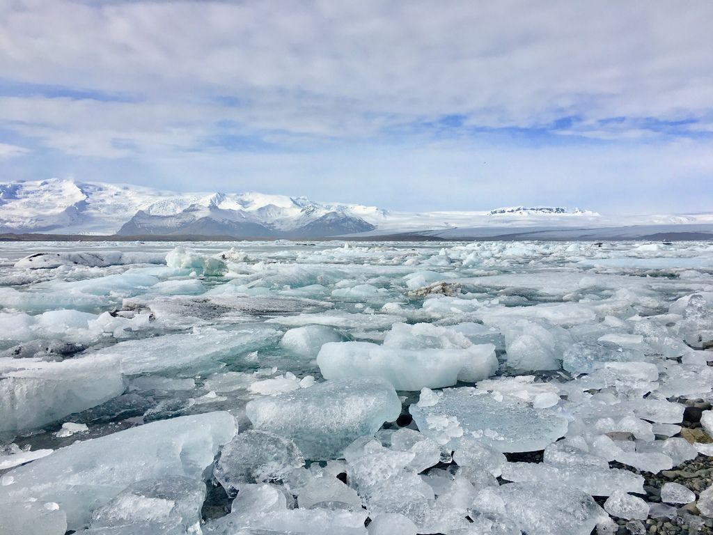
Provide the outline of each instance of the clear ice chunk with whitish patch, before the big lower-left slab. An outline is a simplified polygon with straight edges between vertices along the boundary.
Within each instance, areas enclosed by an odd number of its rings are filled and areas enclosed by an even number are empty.
[[[92,514],[91,528],[150,526],[156,533],[200,530],[205,483],[195,477],[136,481]]]

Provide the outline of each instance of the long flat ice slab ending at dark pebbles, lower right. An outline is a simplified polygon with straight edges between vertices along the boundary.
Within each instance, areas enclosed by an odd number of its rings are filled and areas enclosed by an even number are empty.
[[[503,479],[508,481],[549,482],[569,486],[592,494],[610,496],[614,491],[642,493],[644,478],[627,470],[596,468],[575,464],[553,465],[531,462],[509,462],[503,465]]]

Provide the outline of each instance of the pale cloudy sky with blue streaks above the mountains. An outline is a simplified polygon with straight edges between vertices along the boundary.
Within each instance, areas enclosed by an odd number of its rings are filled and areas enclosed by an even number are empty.
[[[0,181],[713,207],[713,2],[0,2]]]

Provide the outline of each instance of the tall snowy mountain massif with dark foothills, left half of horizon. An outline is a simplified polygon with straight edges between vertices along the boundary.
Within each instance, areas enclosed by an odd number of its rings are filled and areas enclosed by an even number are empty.
[[[263,193],[175,193],[133,185],[0,183],[0,232],[329,236],[374,230],[374,207]]]

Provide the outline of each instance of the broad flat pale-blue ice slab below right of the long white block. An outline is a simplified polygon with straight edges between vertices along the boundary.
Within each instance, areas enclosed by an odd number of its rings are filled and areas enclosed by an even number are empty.
[[[436,404],[412,404],[410,411],[421,432],[436,442],[443,439],[443,428],[429,424],[429,420],[456,419],[463,436],[474,437],[503,453],[544,449],[563,437],[568,428],[567,420],[552,409],[533,409],[511,397],[498,401],[471,387],[444,389]]]

